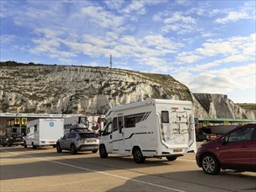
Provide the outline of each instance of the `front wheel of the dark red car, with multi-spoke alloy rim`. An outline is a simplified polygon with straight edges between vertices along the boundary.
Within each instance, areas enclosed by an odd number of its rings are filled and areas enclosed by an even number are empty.
[[[201,159],[201,165],[204,172],[208,175],[217,175],[220,171],[218,161],[212,154],[204,154]]]

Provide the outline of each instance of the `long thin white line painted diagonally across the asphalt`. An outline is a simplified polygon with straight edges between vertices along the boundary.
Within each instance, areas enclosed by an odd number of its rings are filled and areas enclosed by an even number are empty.
[[[139,182],[139,183],[146,184],[146,185],[151,185],[151,186],[154,186],[154,187],[157,187],[157,188],[168,189],[168,190],[177,191],[177,192],[185,192],[185,191],[180,190],[180,189],[169,188],[169,187],[166,187],[166,186],[163,186],[163,185],[158,185],[158,184],[155,184],[155,183],[152,183],[152,182],[143,182],[143,181],[140,181],[140,180],[131,179],[131,178],[124,177],[124,176],[121,176],[121,175],[109,174],[109,173],[106,173],[106,172],[103,172],[103,171],[93,170],[91,168],[81,168],[81,167],[78,167],[78,166],[74,166],[74,165],[59,162],[59,161],[47,160],[45,158],[40,158],[40,157],[33,157],[31,155],[28,155],[28,154],[18,154],[18,153],[10,152],[8,150],[3,150],[3,149],[0,149],[0,150],[8,152],[10,154],[17,154],[17,155],[27,156],[27,157],[30,157],[30,158],[35,159],[35,160],[49,161],[49,162],[57,163],[59,165],[63,165],[63,166],[66,166],[66,167],[78,168],[78,169],[81,169],[81,170],[91,171],[91,172],[102,174],[102,175],[109,175],[109,176],[112,176],[112,177],[117,177],[117,178],[124,179],[124,180],[127,180],[127,181]]]

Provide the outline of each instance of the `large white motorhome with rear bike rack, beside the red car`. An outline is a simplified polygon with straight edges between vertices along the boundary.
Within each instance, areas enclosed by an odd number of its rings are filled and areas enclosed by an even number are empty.
[[[145,158],[196,153],[192,103],[170,99],[147,99],[114,106],[106,113],[107,125],[100,132],[100,157],[133,155],[137,163]]]

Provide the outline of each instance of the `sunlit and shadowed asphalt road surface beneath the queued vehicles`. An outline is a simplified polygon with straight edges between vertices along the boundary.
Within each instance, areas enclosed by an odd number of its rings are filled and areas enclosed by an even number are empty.
[[[100,159],[99,153],[58,154],[52,147],[0,147],[0,163],[1,192],[256,191],[255,173],[206,175],[197,168],[195,154],[137,164],[114,154]]]

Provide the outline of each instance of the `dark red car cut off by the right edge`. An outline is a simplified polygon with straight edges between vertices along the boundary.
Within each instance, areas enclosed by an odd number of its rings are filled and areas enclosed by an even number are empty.
[[[256,171],[256,124],[238,126],[198,147],[197,166],[209,175],[220,169]]]

